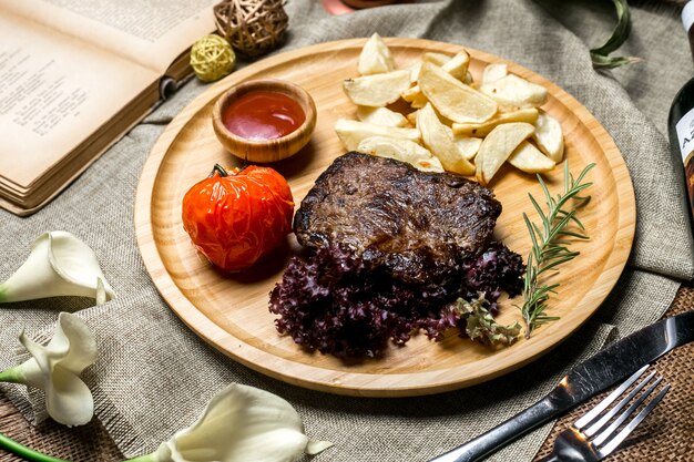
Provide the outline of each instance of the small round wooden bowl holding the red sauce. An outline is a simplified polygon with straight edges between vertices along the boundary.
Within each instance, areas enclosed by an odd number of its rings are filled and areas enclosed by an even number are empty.
[[[274,140],[248,140],[232,133],[222,121],[226,107],[237,97],[254,91],[284,93],[302,106],[306,120],[288,135]],[[282,80],[254,80],[233,86],[222,94],[212,110],[212,125],[217,138],[238,158],[268,163],[287,158],[302,150],[316,127],[316,104],[308,92],[294,83]]]

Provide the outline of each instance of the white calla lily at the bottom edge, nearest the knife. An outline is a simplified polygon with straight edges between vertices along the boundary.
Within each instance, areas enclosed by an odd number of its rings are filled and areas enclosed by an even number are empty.
[[[202,417],[137,462],[294,462],[331,446],[310,440],[284,399],[233,383],[216,394]]]

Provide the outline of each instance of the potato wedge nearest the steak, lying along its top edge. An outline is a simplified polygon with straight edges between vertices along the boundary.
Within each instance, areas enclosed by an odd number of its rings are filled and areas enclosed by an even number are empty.
[[[387,136],[369,136],[361,140],[357,151],[379,157],[407,162],[422,172],[443,172],[441,162],[426,147],[409,140],[396,140]]]

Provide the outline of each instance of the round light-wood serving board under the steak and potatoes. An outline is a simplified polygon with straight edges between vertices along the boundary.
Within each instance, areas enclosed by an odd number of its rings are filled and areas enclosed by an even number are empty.
[[[261,78],[288,80],[313,95],[318,123],[312,141],[296,156],[273,164],[289,182],[298,207],[315,178],[345,152],[333,125],[338,117],[356,119],[356,106],[343,93],[340,82],[358,75],[364,42],[322,43],[262,60],[211,86],[171,122],[152,148],[137,188],[135,227],[146,268],[171,308],[201,338],[252,369],[300,387],[350,396],[418,396],[471,386],[517,369],[557,346],[598,309],[626,263],[635,219],[631,179],[610,135],[567,92],[518,64],[508,62],[509,71],[549,90],[543,107],[562,124],[571,172],[578,174],[586,164],[596,164],[589,175],[594,182],[589,189],[592,201],[580,212],[591,240],[574,244],[581,255],[552,276],[561,286],[550,300],[550,312],[561,319],[538,329],[530,340],[492,350],[451,332],[438,343],[415,335],[405,347],[392,346],[381,358],[357,362],[310,353],[277,333],[275,316],[267,309],[268,292],[280,280],[296,243],[264,265],[229,276],[211,267],[183,230],[181,201],[185,192],[215,163],[238,162],[214,135],[211,112],[216,97],[236,83]],[[401,68],[426,51],[453,54],[461,50],[460,45],[417,39],[389,39],[387,43]],[[476,80],[486,64],[507,62],[467,51]],[[561,167],[548,175],[548,184],[559,192]],[[527,256],[530,238],[522,213],[531,219],[537,216],[528,198],[528,193],[542,198],[537,178],[507,165],[489,186],[503,205],[496,238]],[[503,301],[500,320],[520,319],[512,302],[521,301],[520,297]]]

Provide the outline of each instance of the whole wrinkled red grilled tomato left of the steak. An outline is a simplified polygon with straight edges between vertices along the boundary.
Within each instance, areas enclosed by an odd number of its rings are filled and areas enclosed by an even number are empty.
[[[294,199],[273,168],[251,165],[212,174],[183,197],[183,228],[224,271],[238,271],[278,247],[292,230]]]

